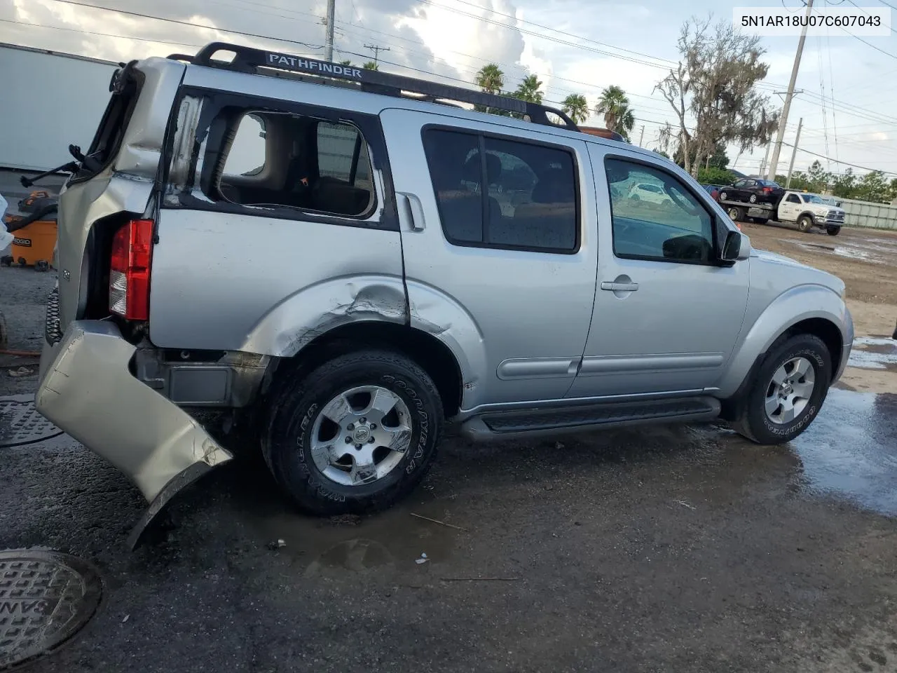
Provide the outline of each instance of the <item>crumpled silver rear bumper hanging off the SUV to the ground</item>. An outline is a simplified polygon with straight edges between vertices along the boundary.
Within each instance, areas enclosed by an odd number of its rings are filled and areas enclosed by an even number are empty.
[[[59,428],[125,473],[150,507],[143,529],[170,498],[232,458],[179,406],[135,379],[135,346],[112,322],[76,320],[44,345],[35,406]]]

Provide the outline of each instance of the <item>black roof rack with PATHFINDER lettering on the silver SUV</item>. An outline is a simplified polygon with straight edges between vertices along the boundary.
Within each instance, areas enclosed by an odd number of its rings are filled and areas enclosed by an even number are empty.
[[[214,60],[213,56],[220,51],[232,52],[231,61]],[[484,108],[501,109],[515,112],[527,121],[550,127],[566,127],[571,131],[579,128],[560,109],[550,108],[538,103],[520,101],[509,96],[493,93],[477,92],[460,86],[429,82],[427,80],[405,77],[399,74],[381,73],[378,70],[364,70],[355,66],[344,66],[315,58],[293,56],[276,51],[266,51],[251,47],[230,44],[228,42],[212,42],[201,48],[195,57],[183,54],[172,54],[174,60],[187,60],[196,66],[216,67],[241,73],[265,74],[266,70],[280,70],[290,73],[315,75],[317,77],[355,82],[361,85],[361,91],[381,93],[388,96],[402,96],[403,92],[421,94],[425,101],[457,101],[478,105]],[[417,98],[417,97],[415,97]],[[418,100],[421,100],[418,98]],[[556,115],[562,123],[558,124],[549,118],[548,113]]]

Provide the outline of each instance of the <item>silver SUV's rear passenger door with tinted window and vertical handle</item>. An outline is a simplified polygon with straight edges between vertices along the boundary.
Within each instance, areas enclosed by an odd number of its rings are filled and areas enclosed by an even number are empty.
[[[595,296],[585,143],[412,110],[380,118],[396,192],[414,202],[402,228],[413,320],[441,315],[449,324],[437,329],[469,329],[484,351],[465,407],[563,398]]]

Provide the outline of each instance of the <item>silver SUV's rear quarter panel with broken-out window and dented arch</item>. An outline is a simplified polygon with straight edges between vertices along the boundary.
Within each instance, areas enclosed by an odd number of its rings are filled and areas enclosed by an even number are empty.
[[[196,130],[205,140],[193,144],[187,127],[175,141],[172,180],[186,184],[170,188],[152,250],[155,345],[291,355],[341,321],[382,319],[387,300],[391,319],[404,322],[402,245],[376,115],[187,90],[180,118],[205,119]]]

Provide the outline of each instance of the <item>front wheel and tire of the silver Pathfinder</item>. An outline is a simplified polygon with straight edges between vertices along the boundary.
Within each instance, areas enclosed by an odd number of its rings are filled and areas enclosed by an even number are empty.
[[[797,369],[793,365],[800,363]],[[804,368],[806,371],[801,375]],[[779,398],[781,389],[776,389],[780,371],[795,381],[786,398]],[[812,381],[810,376],[812,374]],[[832,381],[832,355],[819,337],[800,334],[773,345],[769,354],[757,370],[756,376],[746,393],[741,416],[734,424],[737,433],[758,444],[783,444],[803,433],[813,422],[823,406]],[[806,388],[811,384],[812,391]],[[799,395],[806,391],[806,398]],[[779,403],[779,406],[772,408]],[[769,403],[769,404],[768,404]],[[788,405],[794,411],[788,415]]]

